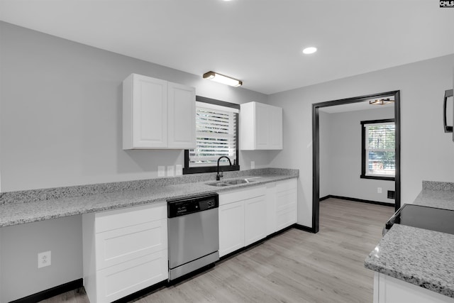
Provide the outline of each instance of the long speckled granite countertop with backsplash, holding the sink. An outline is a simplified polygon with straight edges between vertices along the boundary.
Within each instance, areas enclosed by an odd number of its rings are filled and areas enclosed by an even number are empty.
[[[206,183],[216,182],[214,175],[197,174],[162,178],[161,180],[139,180],[1,193],[0,227],[254,187],[298,177],[299,171],[258,169],[224,172],[226,177],[223,180],[238,177],[253,178],[253,182],[226,187],[207,185]]]

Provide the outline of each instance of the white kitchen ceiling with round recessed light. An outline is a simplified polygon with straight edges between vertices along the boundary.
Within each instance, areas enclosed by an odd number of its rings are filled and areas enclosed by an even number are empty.
[[[0,20],[264,94],[454,53],[437,0],[0,0]]]

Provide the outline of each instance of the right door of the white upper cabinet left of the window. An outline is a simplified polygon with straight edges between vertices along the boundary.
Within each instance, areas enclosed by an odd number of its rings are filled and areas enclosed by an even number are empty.
[[[168,83],[168,148],[196,146],[196,92],[194,87]]]

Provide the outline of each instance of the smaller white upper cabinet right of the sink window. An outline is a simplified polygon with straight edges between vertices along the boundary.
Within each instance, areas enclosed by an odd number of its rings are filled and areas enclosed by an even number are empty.
[[[241,104],[241,150],[282,150],[282,108],[258,102]]]

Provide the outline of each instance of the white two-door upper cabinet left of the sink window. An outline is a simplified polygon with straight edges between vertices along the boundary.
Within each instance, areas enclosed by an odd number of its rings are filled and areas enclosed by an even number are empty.
[[[131,74],[123,81],[123,149],[195,147],[195,89]]]

